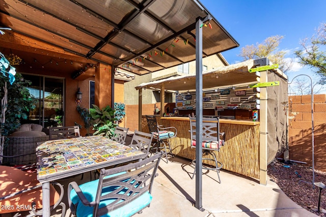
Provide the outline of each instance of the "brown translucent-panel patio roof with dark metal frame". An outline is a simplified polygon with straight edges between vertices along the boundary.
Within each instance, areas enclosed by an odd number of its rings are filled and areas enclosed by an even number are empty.
[[[196,0],[0,0],[0,25],[99,63],[142,75],[239,46]]]

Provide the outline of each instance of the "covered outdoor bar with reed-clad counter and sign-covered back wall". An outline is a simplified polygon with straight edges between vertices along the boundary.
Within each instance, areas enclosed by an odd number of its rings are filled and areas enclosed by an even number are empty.
[[[269,63],[267,58],[250,59],[202,74],[196,72],[196,75],[142,83],[135,87],[139,90],[139,129],[148,130],[146,117],[144,120],[142,115],[145,114],[142,112],[145,88],[160,90],[162,112],[156,119],[165,127],[178,130],[176,138],[170,139],[177,156],[195,159],[188,114],[196,113],[197,107],[203,116],[220,116],[220,130],[225,132],[226,141],[216,157],[223,164],[222,169],[256,178],[266,185],[267,165],[282,153],[287,156],[288,151],[287,77],[275,67],[278,65]],[[198,77],[203,79],[202,88],[198,88]],[[164,115],[170,113],[165,108],[165,92],[172,90],[176,96],[175,107],[169,105],[169,111],[181,117]],[[252,120],[254,110],[259,113],[259,122]],[[222,119],[228,116],[232,119]]]

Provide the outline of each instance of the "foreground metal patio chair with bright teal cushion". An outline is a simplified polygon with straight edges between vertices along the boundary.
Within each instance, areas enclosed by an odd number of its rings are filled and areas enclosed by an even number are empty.
[[[68,204],[76,216],[127,217],[150,206],[162,153],[139,162],[101,169],[97,180],[68,184]]]

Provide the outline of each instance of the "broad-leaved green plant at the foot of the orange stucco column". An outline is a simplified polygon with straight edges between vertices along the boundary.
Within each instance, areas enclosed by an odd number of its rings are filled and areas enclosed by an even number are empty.
[[[100,109],[98,106],[93,105],[93,108],[89,109],[90,115],[93,121],[93,135],[102,135],[107,138],[112,138],[114,130],[117,126],[114,117],[115,110],[110,106],[105,106]]]

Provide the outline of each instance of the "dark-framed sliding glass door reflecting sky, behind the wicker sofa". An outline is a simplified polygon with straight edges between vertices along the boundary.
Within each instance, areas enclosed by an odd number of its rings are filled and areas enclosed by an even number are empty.
[[[23,78],[32,82],[28,89],[38,99],[26,122],[43,128],[64,126],[64,79],[28,74],[23,74]]]

